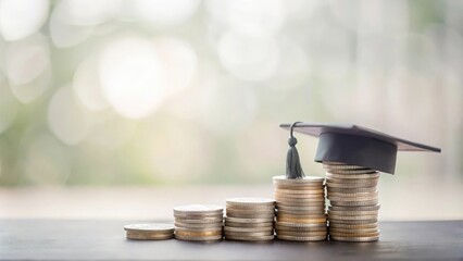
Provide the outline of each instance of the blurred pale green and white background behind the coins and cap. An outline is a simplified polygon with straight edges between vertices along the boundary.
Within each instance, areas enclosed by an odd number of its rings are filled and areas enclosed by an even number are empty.
[[[399,153],[380,216],[463,219],[462,1],[0,0],[0,217],[272,197],[305,121],[442,148]]]

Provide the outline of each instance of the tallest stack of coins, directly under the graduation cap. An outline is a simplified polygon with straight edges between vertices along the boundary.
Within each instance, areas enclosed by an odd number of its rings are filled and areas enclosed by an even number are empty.
[[[376,170],[323,162],[329,200],[329,239],[376,241],[378,229],[379,173]]]

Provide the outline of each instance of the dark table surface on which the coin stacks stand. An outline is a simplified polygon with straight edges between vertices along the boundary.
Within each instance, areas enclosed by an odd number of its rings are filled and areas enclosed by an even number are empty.
[[[463,260],[463,221],[383,222],[377,243],[127,240],[124,221],[0,220],[0,259]]]

